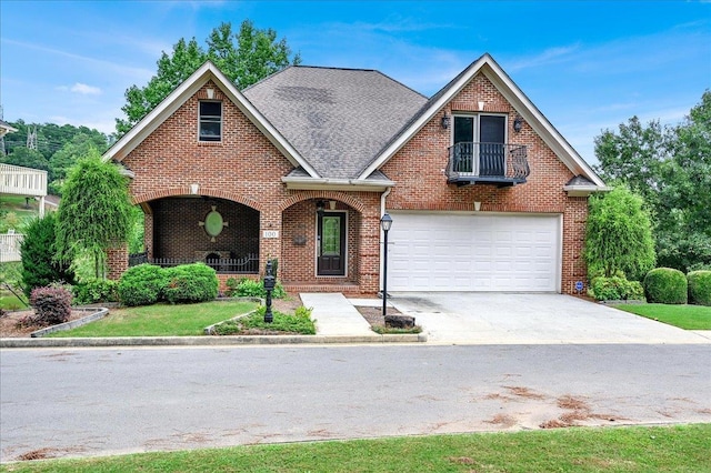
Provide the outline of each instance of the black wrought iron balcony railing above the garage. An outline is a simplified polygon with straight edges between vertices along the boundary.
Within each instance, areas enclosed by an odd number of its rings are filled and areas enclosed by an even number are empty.
[[[513,185],[525,182],[530,172],[522,144],[461,142],[449,148],[449,183]]]

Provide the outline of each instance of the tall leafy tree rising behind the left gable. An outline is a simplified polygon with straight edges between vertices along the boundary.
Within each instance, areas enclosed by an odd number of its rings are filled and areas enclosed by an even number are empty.
[[[121,110],[127,118],[117,119],[117,134],[126,134],[208,59],[239,89],[301,62],[299,54],[291,57],[286,39],[277,41],[274,30],[257,29],[249,20],[242,21],[237,33],[232,32],[230,22],[214,28],[208,37],[207,49],[194,38],[189,41],[181,38],[170,54],[163,51],[158,72],[146,87],[131,85],[126,91],[127,103]]]

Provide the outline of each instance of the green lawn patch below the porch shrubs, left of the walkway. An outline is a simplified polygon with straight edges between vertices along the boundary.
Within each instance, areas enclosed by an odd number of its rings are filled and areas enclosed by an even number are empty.
[[[214,301],[111,309],[101,320],[48,336],[197,336],[204,334],[206,326],[250,312],[257,305],[254,302]]]

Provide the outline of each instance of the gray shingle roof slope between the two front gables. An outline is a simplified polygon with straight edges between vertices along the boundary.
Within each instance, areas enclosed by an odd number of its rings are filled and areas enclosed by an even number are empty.
[[[428,99],[372,70],[294,66],[246,89],[323,178],[356,178]]]

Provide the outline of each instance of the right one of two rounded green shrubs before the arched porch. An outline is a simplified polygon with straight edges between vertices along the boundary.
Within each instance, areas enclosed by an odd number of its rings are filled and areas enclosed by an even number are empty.
[[[163,296],[171,304],[211,301],[218,295],[217,272],[203,263],[181,264],[166,270]]]

